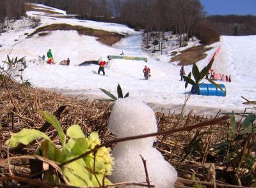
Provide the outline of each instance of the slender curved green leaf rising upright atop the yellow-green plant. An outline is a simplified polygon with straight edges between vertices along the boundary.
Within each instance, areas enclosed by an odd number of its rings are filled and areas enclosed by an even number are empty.
[[[64,147],[65,141],[66,141],[66,135],[64,134],[64,132],[60,126],[60,123],[58,122],[56,117],[49,112],[44,112],[44,111],[39,111],[39,112],[42,113],[44,119],[47,122],[49,122],[50,124],[52,124],[52,126],[54,126],[54,128],[58,131],[58,134],[60,136],[61,145],[62,145],[62,147]]]

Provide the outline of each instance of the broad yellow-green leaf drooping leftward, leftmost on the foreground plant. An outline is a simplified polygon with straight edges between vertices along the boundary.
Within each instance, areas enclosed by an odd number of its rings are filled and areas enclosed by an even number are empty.
[[[32,141],[36,140],[36,138],[44,138],[51,141],[51,139],[41,131],[36,129],[22,129],[19,133],[14,133],[11,138],[5,142],[5,145],[10,147],[17,147],[19,143],[28,145]]]

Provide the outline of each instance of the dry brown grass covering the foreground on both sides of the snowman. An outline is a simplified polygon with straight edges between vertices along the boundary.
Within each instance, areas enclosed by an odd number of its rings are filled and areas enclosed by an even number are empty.
[[[38,129],[44,124],[42,115],[38,113],[38,110],[54,113],[63,105],[67,107],[61,113],[59,121],[64,131],[72,124],[79,124],[86,135],[92,131],[98,131],[103,142],[115,138],[108,130],[108,121],[111,112],[109,110],[109,103],[70,98],[56,94],[55,92],[26,87],[6,79],[0,79],[0,99],[0,155],[2,160],[7,157],[7,148],[3,143],[13,133],[17,133],[24,127]],[[182,120],[179,120],[179,115],[175,113],[156,113],[159,131],[186,127],[198,122],[205,122],[210,118],[212,117],[193,115],[193,112],[190,112]],[[227,121],[215,126],[201,128],[200,130],[157,136],[156,148],[163,154],[166,161],[175,166],[175,169],[178,171],[179,181],[176,184],[177,187],[184,187],[184,185],[195,187],[195,183],[201,184],[202,187],[205,184],[211,185],[209,180],[207,180],[207,169],[211,167],[209,162],[211,158],[215,159],[218,157],[218,154],[212,152],[211,148],[223,139],[226,135],[223,128],[229,126],[230,123]],[[200,138],[202,143],[200,143],[200,148],[198,148],[195,154],[186,156],[186,147],[196,135],[196,131],[200,131],[200,133],[205,132],[204,136]],[[59,140],[55,138],[56,130],[49,127],[45,133],[50,138],[54,138],[54,143],[59,144]],[[23,152],[16,153],[15,155],[31,155],[37,147],[38,144],[33,143],[24,148]],[[10,157],[15,155],[10,153]],[[29,171],[28,161],[16,160],[11,165],[13,169],[15,166],[15,171],[19,173]],[[218,184],[227,184],[224,183],[227,182],[225,175],[230,171],[232,172],[232,167],[224,166],[223,163],[216,163],[214,169],[217,174],[219,173],[219,176],[221,175],[216,182]],[[4,173],[8,174],[8,165],[1,163],[1,160],[0,170],[2,176]],[[196,174],[194,182],[191,180],[193,174]],[[8,176],[5,175],[4,177]]]

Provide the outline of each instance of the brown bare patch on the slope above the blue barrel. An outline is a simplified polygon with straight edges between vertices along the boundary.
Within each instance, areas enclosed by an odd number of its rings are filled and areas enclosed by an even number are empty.
[[[209,50],[211,50],[211,48],[205,48],[204,46],[191,47],[182,51],[182,54],[172,57],[170,62],[179,61],[180,66],[193,64],[207,57],[207,54],[204,52]]]

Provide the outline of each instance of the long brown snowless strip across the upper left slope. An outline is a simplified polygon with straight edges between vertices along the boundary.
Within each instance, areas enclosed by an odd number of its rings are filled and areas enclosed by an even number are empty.
[[[44,27],[39,27],[33,33],[29,34],[28,37],[31,37],[37,33],[45,32],[45,31],[77,31],[79,34],[95,36],[97,37],[97,41],[104,43],[105,45],[113,45],[116,42],[120,41],[121,38],[124,38],[124,35],[118,33],[111,33],[108,31],[92,29],[88,27],[83,27],[81,25],[69,25],[69,24],[51,24],[46,25]]]

